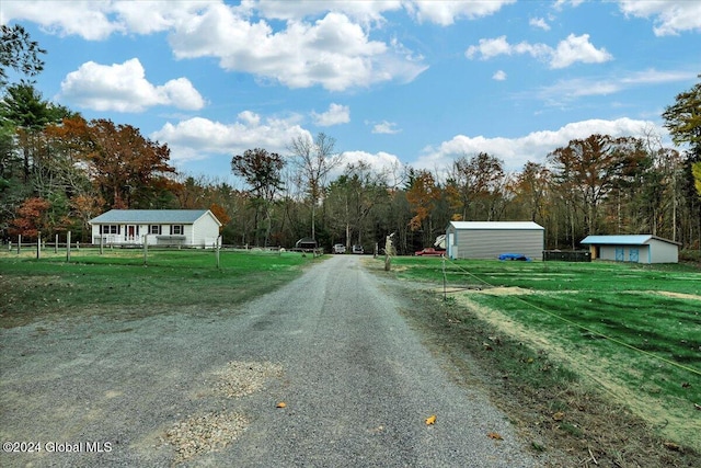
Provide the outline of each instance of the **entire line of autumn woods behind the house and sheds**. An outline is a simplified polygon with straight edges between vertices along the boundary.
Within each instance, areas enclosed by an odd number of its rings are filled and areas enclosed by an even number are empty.
[[[394,232],[400,253],[430,246],[451,220],[533,220],[548,248],[574,249],[589,233],[652,233],[688,249],[701,243],[701,83],[663,114],[675,148],[658,135],[591,135],[509,173],[481,152],[443,172],[346,163],[333,137],[299,136],[285,155],[251,148],[231,156],[235,189],[180,173],[168,145],[110,119],[84,119],[45,101],[33,77],[45,52],[21,26],[2,26],[0,49],[0,233],[71,230],[110,208],[209,208],[228,244],[361,244]],[[679,150],[678,148],[685,148]]]

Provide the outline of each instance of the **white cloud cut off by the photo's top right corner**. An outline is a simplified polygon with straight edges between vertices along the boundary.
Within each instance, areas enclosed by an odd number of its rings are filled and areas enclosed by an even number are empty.
[[[619,7],[627,15],[654,16],[653,31],[657,36],[676,35],[685,31],[701,32],[701,2],[698,1],[619,0]]]

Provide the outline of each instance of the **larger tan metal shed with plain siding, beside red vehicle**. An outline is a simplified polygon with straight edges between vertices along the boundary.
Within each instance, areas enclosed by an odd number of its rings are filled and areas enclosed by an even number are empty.
[[[502,253],[520,253],[540,260],[545,228],[532,221],[451,221],[446,238],[450,259],[498,259]]]

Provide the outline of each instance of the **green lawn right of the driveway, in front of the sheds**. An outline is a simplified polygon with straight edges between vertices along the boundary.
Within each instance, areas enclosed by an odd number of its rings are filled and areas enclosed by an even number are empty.
[[[441,259],[397,258],[393,267],[441,289]],[[665,435],[701,449],[698,269],[446,261],[445,279],[449,301],[563,359]]]

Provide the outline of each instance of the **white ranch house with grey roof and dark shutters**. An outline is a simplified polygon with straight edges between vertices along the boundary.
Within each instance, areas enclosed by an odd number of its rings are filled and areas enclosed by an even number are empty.
[[[221,222],[209,209],[111,209],[90,221],[105,246],[215,247]]]

